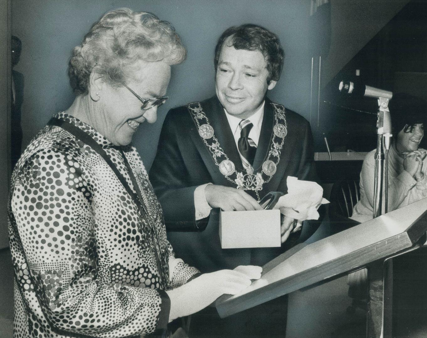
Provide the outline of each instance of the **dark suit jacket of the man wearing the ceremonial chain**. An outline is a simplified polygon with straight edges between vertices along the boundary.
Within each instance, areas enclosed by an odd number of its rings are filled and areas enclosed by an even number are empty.
[[[234,162],[236,170],[244,171],[224,109],[214,96],[201,102],[219,144]],[[287,192],[287,176],[315,180],[313,139],[308,121],[292,110],[286,110],[287,136],[278,168],[264,184],[260,197],[270,191]],[[269,149],[274,126],[274,111],[266,98],[264,116],[254,159],[255,172],[260,170]],[[218,209],[208,218],[195,221],[194,190],[213,183],[236,188],[219,171],[186,106],[171,109],[166,116],[157,155],[149,178],[164,211],[168,239],[177,257],[202,272],[234,269],[238,265],[263,265],[297,242],[309,238],[319,226],[304,222],[301,232],[292,234],[281,248],[222,249],[219,241]],[[253,191],[247,191],[253,193]]]

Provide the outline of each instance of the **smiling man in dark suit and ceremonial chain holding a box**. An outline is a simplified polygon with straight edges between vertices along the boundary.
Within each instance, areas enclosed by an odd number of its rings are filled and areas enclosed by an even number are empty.
[[[278,37],[263,27],[227,29],[215,50],[216,95],[172,109],[164,121],[150,180],[178,257],[202,272],[262,266],[317,228],[304,225],[301,236],[294,220],[285,218],[281,248],[222,249],[219,241],[219,209],[259,210],[259,200],[270,191],[287,192],[287,176],[315,178],[309,123],[266,97],[280,78],[283,59]],[[234,332],[228,334],[284,335],[286,306],[266,304],[263,324],[257,307],[242,321],[233,316]]]

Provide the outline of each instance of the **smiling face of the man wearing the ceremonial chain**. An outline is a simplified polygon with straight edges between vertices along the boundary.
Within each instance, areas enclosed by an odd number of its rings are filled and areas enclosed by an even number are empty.
[[[238,118],[249,118],[260,108],[267,90],[276,81],[267,84],[267,63],[259,51],[235,49],[222,45],[216,69],[216,95],[227,113]]]

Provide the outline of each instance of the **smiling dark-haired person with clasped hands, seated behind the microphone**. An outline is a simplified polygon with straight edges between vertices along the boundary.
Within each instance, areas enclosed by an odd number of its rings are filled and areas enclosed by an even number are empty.
[[[427,195],[426,150],[419,148],[424,137],[425,101],[406,94],[397,94],[390,101],[393,142],[389,150],[388,211],[416,202]],[[363,161],[360,173],[360,201],[354,206],[354,220],[372,219],[374,205],[375,152]],[[383,198],[383,210],[385,200]]]

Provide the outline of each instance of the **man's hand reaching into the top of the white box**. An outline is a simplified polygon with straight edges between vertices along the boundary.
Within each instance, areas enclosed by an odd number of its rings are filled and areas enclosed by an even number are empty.
[[[256,199],[236,188],[209,184],[205,187],[205,196],[212,208],[223,211],[263,210]]]

